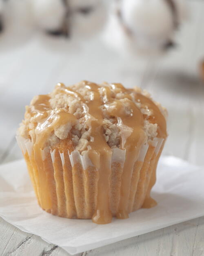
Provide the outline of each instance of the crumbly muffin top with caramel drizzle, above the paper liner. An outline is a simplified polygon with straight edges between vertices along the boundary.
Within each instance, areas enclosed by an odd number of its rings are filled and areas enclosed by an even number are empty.
[[[26,106],[18,134],[33,144],[70,151],[129,149],[166,138],[166,110],[140,88],[82,81],[57,84]],[[68,145],[69,144],[69,145]]]

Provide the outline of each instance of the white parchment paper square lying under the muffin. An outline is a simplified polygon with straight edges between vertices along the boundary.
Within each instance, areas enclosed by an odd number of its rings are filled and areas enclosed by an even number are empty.
[[[97,225],[44,212],[37,204],[24,160],[0,165],[0,216],[70,254],[108,245],[204,215],[204,167],[161,157],[152,196],[158,205],[127,220]]]

